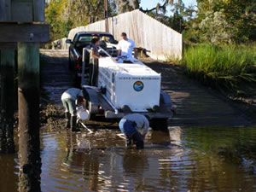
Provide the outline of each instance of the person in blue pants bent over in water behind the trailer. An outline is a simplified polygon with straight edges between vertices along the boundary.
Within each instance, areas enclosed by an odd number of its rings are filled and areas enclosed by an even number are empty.
[[[125,134],[126,147],[131,148],[136,144],[137,148],[144,148],[144,138],[148,132],[148,119],[139,113],[125,115],[119,122],[119,129]]]

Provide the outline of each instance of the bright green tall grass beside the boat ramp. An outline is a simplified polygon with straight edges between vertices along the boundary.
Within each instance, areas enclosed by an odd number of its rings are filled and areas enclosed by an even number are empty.
[[[215,87],[236,90],[237,85],[256,83],[256,46],[191,45],[180,63],[190,76]]]

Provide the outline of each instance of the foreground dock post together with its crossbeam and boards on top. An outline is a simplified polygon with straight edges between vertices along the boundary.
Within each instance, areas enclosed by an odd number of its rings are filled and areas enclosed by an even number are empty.
[[[44,0],[0,0],[0,43],[18,42],[21,192],[41,191],[39,43],[49,41],[49,26],[33,23],[41,21],[44,21]]]

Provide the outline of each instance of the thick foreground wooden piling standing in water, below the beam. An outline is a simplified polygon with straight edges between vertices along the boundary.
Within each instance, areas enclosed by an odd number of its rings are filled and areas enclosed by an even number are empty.
[[[40,191],[39,44],[18,43],[19,191]]]

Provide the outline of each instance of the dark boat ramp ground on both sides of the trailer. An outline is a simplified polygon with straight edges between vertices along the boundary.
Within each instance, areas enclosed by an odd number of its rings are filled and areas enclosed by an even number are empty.
[[[67,55],[65,50],[41,50],[41,82],[47,94],[43,98],[40,114],[42,126],[47,131],[65,129],[61,94],[73,87],[73,74],[68,71]],[[253,102],[231,102],[228,96],[186,77],[180,67],[148,59],[143,62],[161,73],[162,89],[172,97],[176,114],[170,119],[169,126],[255,124]],[[116,124],[102,122],[88,121],[86,125],[94,129],[117,128]]]

